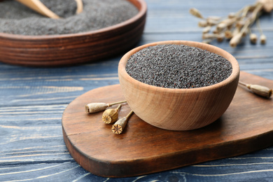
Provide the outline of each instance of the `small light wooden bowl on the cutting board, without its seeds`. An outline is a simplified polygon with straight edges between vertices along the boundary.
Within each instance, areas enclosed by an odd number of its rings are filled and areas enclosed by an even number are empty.
[[[159,44],[183,44],[214,52],[232,64],[231,75],[221,83],[192,89],[156,87],[135,80],[125,70],[127,59],[135,52]],[[123,95],[142,120],[166,130],[193,130],[220,118],[234,97],[239,81],[239,64],[230,53],[205,43],[162,41],[149,43],[127,52],[118,65]]]

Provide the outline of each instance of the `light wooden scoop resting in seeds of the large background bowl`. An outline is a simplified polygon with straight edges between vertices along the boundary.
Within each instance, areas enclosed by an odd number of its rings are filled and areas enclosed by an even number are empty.
[[[53,13],[50,9],[48,9],[41,1],[39,0],[16,0],[25,6],[35,10],[36,12],[44,15],[48,18],[58,19],[59,16]],[[77,10],[76,13],[81,13],[83,11],[83,1],[82,0],[75,0],[77,3]]]

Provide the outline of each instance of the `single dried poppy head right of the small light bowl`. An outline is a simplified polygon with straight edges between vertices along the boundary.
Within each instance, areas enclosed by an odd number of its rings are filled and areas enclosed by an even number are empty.
[[[272,89],[269,89],[268,87],[262,86],[262,85],[252,85],[247,84],[244,82],[239,81],[240,85],[243,85],[247,87],[249,90],[251,90],[253,93],[258,94],[262,97],[269,98],[272,96]]]

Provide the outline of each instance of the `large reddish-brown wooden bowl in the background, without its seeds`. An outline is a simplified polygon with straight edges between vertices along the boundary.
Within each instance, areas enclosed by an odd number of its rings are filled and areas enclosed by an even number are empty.
[[[25,36],[0,33],[0,61],[23,66],[67,66],[94,62],[130,50],[146,22],[144,0],[127,0],[139,9],[120,24],[78,34]]]

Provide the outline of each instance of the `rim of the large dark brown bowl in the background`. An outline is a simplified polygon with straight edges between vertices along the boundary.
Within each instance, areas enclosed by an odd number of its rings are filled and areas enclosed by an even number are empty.
[[[112,25],[110,27],[104,27],[102,29],[96,29],[91,31],[84,31],[84,32],[78,32],[74,34],[52,34],[52,35],[21,35],[21,34],[8,34],[0,32],[0,38],[13,38],[13,39],[35,39],[35,40],[50,40],[52,38],[74,38],[76,36],[91,36],[95,34],[102,34],[109,31],[115,31],[116,29],[125,27],[127,25],[130,25],[137,20],[139,20],[141,17],[143,17],[147,12],[147,4],[145,0],[127,0],[130,1],[136,8],[138,8],[139,13],[137,15],[134,15],[134,17],[125,20],[124,22],[120,22],[116,25]],[[136,5],[136,3],[139,3],[139,7]]]

